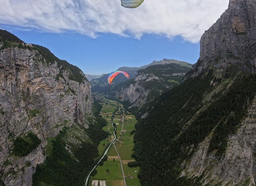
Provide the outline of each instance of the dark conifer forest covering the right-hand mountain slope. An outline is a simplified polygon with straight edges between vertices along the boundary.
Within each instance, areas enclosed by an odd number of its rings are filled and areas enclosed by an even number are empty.
[[[136,125],[133,157],[141,164],[142,185],[200,184],[200,179],[180,178],[182,163],[212,131],[208,153],[225,152],[228,135],[236,132],[254,98],[256,75],[238,75],[229,89],[217,91],[205,105],[204,96],[216,86],[211,85],[213,78],[202,73],[164,93],[152,103],[148,118]],[[225,80],[214,81],[218,85]]]

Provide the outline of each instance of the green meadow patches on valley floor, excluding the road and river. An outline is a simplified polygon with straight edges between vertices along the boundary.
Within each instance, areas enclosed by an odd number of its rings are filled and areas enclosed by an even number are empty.
[[[111,120],[112,112],[114,112],[114,110],[116,109],[116,106],[123,107],[118,102],[110,102],[110,100],[104,100],[104,104],[105,105],[104,105],[104,108],[102,108],[101,113],[106,120],[108,119],[108,121]],[[115,105],[115,106],[113,106],[113,105]],[[121,114],[121,109],[117,113]],[[115,115],[114,119],[120,119],[120,115]],[[116,142],[115,143],[116,148],[121,157],[121,160],[124,160],[122,166],[123,166],[125,176],[127,176],[127,174],[133,176],[133,178],[128,178],[128,177],[125,178],[127,186],[141,186],[140,180],[138,178],[138,173],[140,171],[140,167],[130,168],[127,165],[129,160],[135,161],[134,158],[130,157],[133,153],[132,149],[134,147],[134,143],[133,143],[134,134],[131,135],[130,132],[135,129],[134,126],[135,126],[135,123],[137,122],[137,120],[135,119],[135,117],[133,115],[127,115],[127,119],[125,119],[124,121],[125,121],[126,125],[125,124],[123,125],[123,130],[126,129],[127,132],[121,133],[122,122],[121,122],[121,124],[119,124],[120,123],[119,120],[113,120],[113,123],[117,124],[116,125],[116,127],[117,127],[116,136],[118,138],[119,135],[121,134],[121,137],[119,138],[119,140],[124,142],[124,143]],[[107,126],[104,126],[102,128],[102,130],[108,131],[108,126],[109,126],[109,123]],[[109,130],[110,130],[111,134],[113,134],[114,127],[112,126],[112,124],[110,124]],[[109,135],[107,139],[110,139],[110,138],[111,138],[111,135]],[[101,155],[104,152],[106,146],[109,143],[110,143],[110,141],[108,141],[108,140],[102,140],[100,142],[100,144],[98,146],[99,155]],[[106,144],[106,145],[103,145],[103,144]],[[119,145],[121,145],[121,146],[119,146]],[[117,156],[117,152],[114,148],[114,145],[112,145],[110,147],[107,155],[109,157]],[[103,163],[102,166],[98,166],[97,174],[95,176],[91,177],[91,179],[90,179],[91,183],[92,183],[92,180],[106,180],[106,186],[124,186],[120,161],[118,158],[115,158],[115,161],[113,161],[112,159],[113,159],[113,157],[110,157],[108,159],[108,161],[105,161]],[[109,173],[106,173],[107,169],[109,170]],[[98,185],[100,185],[100,182]]]

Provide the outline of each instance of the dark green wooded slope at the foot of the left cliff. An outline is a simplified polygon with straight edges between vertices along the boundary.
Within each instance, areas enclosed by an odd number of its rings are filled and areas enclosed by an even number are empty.
[[[108,135],[101,130],[107,121],[98,113],[101,105],[94,104],[94,117],[86,116],[89,128],[73,124],[64,127],[55,137],[47,139],[44,148],[48,155],[42,165],[37,166],[33,175],[33,185],[83,185],[86,175],[98,157],[97,146]],[[88,137],[86,137],[88,136]]]

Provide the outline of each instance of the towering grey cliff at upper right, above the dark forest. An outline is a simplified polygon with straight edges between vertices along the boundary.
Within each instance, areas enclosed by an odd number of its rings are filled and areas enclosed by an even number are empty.
[[[185,78],[202,71],[224,75],[229,66],[256,73],[256,0],[230,0],[229,8],[200,40],[200,58]]]

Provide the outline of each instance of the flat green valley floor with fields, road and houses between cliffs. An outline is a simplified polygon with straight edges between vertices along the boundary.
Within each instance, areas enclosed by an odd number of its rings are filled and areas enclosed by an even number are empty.
[[[102,140],[100,145],[98,146],[99,156],[101,156],[104,151],[106,145],[111,143],[114,139],[114,127],[112,123],[116,124],[116,142],[111,145],[107,156],[108,159],[103,163],[102,166],[98,166],[97,174],[92,176],[89,180],[90,186],[140,186],[140,180],[138,178],[138,173],[140,171],[140,167],[128,167],[128,162],[135,161],[134,158],[131,157],[133,151],[133,137],[134,134],[130,134],[132,130],[135,129],[135,123],[137,122],[135,116],[131,115],[125,111],[122,104],[104,99],[102,104],[101,115],[108,120],[108,125],[104,126],[102,130],[109,132],[109,136],[107,139]],[[115,110],[119,107],[118,111]],[[112,113],[115,113],[113,116],[113,120],[111,121]],[[127,115],[125,115],[125,113]],[[122,130],[123,127],[123,130]],[[114,146],[115,145],[115,146]],[[116,149],[115,149],[116,147]],[[118,153],[117,153],[118,152]],[[122,166],[121,166],[121,162]],[[125,176],[125,182],[123,178],[123,173]],[[108,173],[107,173],[108,170]],[[132,178],[130,178],[130,177]],[[105,182],[104,182],[105,181]]]

